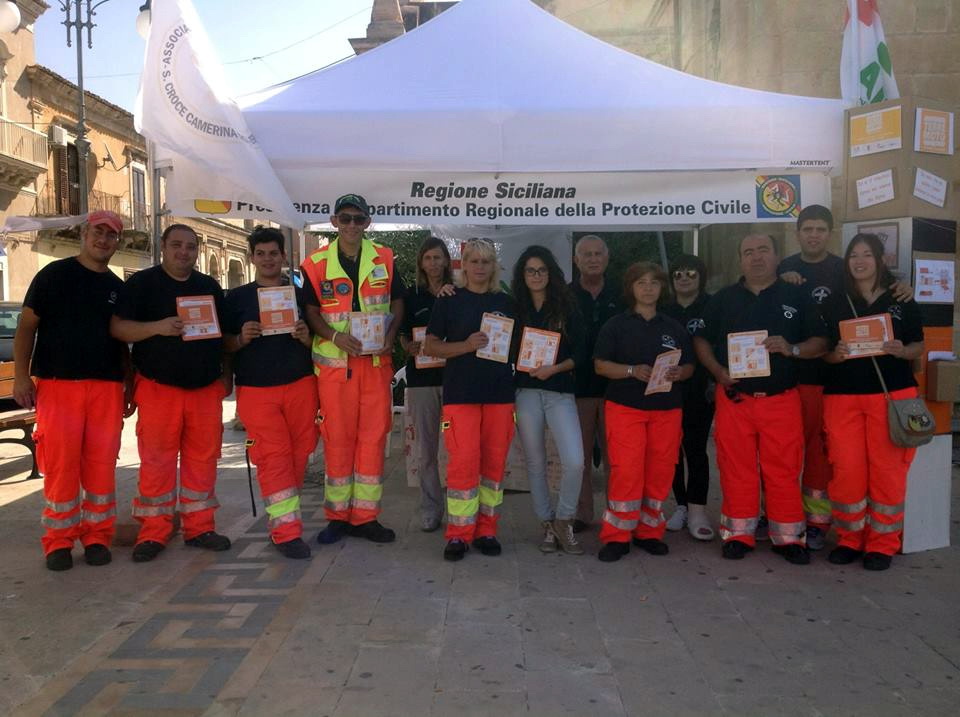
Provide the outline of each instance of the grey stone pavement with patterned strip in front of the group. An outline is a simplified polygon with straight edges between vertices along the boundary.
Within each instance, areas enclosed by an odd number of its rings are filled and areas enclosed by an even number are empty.
[[[250,516],[242,439],[226,431],[218,485],[232,550],[175,540],[135,565],[116,547],[101,568],[75,551],[65,573],[43,566],[39,485],[22,480],[28,461],[10,457],[19,449],[3,447],[0,713],[960,713],[958,548],[867,573],[823,554],[791,566],[763,545],[724,561],[718,543],[684,532],[668,535],[667,557],[603,564],[596,533],[586,556],[540,554],[529,497],[510,494],[503,555],[450,564],[442,536],[418,529],[395,441],[383,522],[397,542],[347,538],[289,561],[269,545],[262,511]],[[316,483],[304,502],[312,538],[323,524]]]

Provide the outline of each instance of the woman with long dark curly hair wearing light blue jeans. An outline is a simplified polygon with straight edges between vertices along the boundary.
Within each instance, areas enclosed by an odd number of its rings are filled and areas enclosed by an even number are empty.
[[[517,370],[517,429],[526,459],[533,509],[543,528],[540,550],[582,555],[573,533],[573,520],[583,478],[583,438],[574,398],[574,366],[584,360],[583,322],[563,276],[549,249],[528,247],[517,259],[511,286],[517,302],[515,341],[525,328],[560,335],[556,359],[529,371]],[[522,346],[521,346],[522,350]],[[522,358],[522,356],[521,356]],[[545,427],[550,427],[560,456],[560,495],[551,505],[547,484]]]

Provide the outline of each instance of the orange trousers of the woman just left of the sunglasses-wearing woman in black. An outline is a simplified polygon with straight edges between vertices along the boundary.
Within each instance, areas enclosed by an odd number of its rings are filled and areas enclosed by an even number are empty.
[[[683,411],[644,411],[604,403],[610,480],[601,543],[660,540],[666,530],[663,501],[673,485],[680,454]]]

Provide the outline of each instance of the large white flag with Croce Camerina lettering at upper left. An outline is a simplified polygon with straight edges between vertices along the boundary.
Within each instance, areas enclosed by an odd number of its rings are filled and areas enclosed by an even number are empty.
[[[278,223],[300,227],[286,190],[240,108],[190,0],[154,0],[134,121],[162,150],[229,177],[239,193],[211,200],[264,205]],[[173,182],[176,183],[176,171]],[[212,189],[212,188],[211,188]]]

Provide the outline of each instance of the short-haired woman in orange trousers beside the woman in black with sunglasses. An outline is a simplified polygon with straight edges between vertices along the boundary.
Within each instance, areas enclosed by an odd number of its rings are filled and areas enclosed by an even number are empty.
[[[666,555],[663,501],[670,492],[680,451],[683,395],[678,381],[693,375],[687,330],[660,313],[667,276],[656,264],[638,262],[623,277],[630,308],[600,330],[594,348],[597,373],[610,379],[604,412],[610,480],[597,556],[614,562],[633,544]]]

